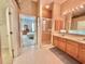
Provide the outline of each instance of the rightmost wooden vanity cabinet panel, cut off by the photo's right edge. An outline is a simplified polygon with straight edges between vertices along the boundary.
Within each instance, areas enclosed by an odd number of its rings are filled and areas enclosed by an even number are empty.
[[[80,44],[79,60],[85,64],[85,44]]]

